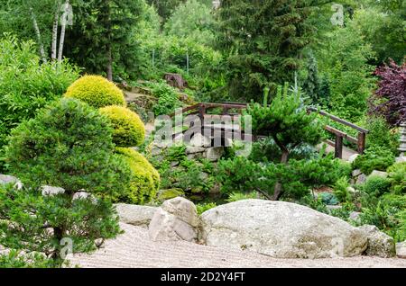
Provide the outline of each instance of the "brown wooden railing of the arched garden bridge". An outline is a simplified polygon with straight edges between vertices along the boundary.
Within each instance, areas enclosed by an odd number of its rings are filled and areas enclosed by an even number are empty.
[[[195,105],[186,107],[179,112],[172,113],[171,117],[173,117],[179,113],[182,113],[182,114],[187,113],[186,115],[196,114],[196,115],[198,115],[198,117],[201,120],[203,120],[206,115],[213,116],[213,114],[207,113],[208,110],[213,110],[213,109],[217,109],[217,108],[222,109],[222,115],[238,116],[239,114],[241,114],[243,112],[243,110],[246,109],[246,106],[247,106],[247,103],[197,103]],[[238,113],[237,114],[230,113],[229,111],[232,109],[238,110]],[[335,156],[336,157],[338,157],[338,158],[343,157],[344,139],[348,140],[351,143],[356,144],[356,146],[357,146],[356,151],[359,154],[364,153],[366,134],[369,133],[369,130],[365,130],[364,128],[359,127],[351,122],[345,121],[333,114],[330,114],[330,113],[324,112],[324,111],[319,111],[318,109],[313,108],[313,107],[309,107],[308,111],[309,112],[318,112],[318,114],[320,114],[324,117],[327,117],[332,121],[336,121],[340,124],[343,124],[345,126],[348,126],[352,129],[358,131],[358,136],[357,136],[357,138],[355,138],[355,137],[352,137],[352,136],[346,134],[346,132],[335,129],[334,127],[331,127],[329,125],[325,126],[325,130],[327,130],[329,133],[335,135],[335,137],[336,137],[335,141],[328,140],[328,144],[335,147]]]

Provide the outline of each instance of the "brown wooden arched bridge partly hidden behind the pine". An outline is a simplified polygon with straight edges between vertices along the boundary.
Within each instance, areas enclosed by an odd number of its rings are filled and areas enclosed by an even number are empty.
[[[191,105],[182,109],[181,111],[174,112],[171,114],[171,117],[174,117],[178,114],[182,114],[182,116],[188,115],[197,115],[200,122],[202,122],[198,126],[194,126],[193,123],[188,127],[188,130],[183,130],[180,133],[184,134],[185,132],[189,131],[192,133],[200,133],[200,134],[211,134],[211,138],[215,136],[215,134],[221,134],[221,138],[238,138],[243,141],[256,141],[258,139],[263,139],[263,136],[254,136],[253,134],[247,134],[244,130],[241,129],[240,126],[235,126],[232,124],[226,124],[221,120],[224,119],[224,115],[228,115],[232,121],[239,119],[242,112],[246,109],[247,103],[198,103],[195,105]],[[217,113],[214,113],[217,112]],[[220,114],[218,114],[218,112]],[[337,116],[330,114],[324,111],[318,111],[316,108],[308,108],[308,112],[318,112],[321,116],[327,117],[331,121],[336,121],[342,125],[350,127],[357,131],[358,136],[352,137],[348,135],[346,132],[337,130],[329,125],[325,126],[325,130],[329,133],[333,134],[335,140],[327,140],[326,142],[328,145],[334,147],[335,156],[337,158],[343,158],[343,150],[346,149],[347,152],[352,154],[363,154],[365,149],[365,140],[366,134],[368,134],[369,130],[365,130],[362,127],[359,127],[351,122],[345,121]],[[216,123],[215,121],[219,121]],[[210,122],[209,124],[203,122]],[[174,134],[173,137],[177,137],[180,133]],[[351,150],[344,147],[344,139],[347,141],[354,143],[356,146],[356,150]],[[224,141],[223,141],[224,142]],[[224,142],[224,146],[226,142]]]

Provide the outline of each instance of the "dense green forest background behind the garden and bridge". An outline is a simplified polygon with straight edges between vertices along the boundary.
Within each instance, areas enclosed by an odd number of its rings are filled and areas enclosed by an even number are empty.
[[[289,82],[354,122],[368,112],[374,70],[404,60],[402,0],[215,3],[0,0],[0,33],[35,41],[43,61],[69,58],[115,82],[179,73],[196,101],[260,101],[264,87]],[[73,19],[61,25],[65,4]]]

